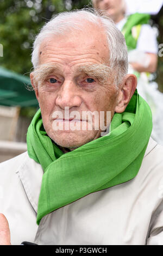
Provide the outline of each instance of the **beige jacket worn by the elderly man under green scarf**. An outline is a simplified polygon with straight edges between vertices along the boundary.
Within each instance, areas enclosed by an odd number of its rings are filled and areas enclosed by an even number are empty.
[[[152,139],[133,180],[55,210],[38,226],[42,175],[27,153],[0,164],[0,212],[12,245],[163,245],[163,147]]]

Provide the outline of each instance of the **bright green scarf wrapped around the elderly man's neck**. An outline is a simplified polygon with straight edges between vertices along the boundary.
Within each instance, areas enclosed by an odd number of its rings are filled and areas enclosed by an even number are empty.
[[[152,114],[135,91],[126,111],[115,113],[111,132],[66,154],[43,129],[40,109],[28,128],[28,155],[44,174],[37,209],[43,216],[92,192],[133,179],[152,132]]]

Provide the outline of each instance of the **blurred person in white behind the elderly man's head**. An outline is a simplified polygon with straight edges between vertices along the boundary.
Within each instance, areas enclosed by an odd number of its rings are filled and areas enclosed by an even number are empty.
[[[155,82],[149,82],[158,64],[158,42],[155,29],[149,25],[150,15],[127,15],[124,0],[93,0],[92,3],[93,7],[109,15],[123,33],[128,47],[129,73],[137,76],[137,90],[152,109],[152,137],[163,145],[163,94]]]

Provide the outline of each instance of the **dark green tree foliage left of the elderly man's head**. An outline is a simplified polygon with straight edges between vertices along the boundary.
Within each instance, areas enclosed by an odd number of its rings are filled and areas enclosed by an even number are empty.
[[[80,9],[87,0],[0,0],[0,44],[4,68],[29,75],[32,45],[39,29],[61,11]]]

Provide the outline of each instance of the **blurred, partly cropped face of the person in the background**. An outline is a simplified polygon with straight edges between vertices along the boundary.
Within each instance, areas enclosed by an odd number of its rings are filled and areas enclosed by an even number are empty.
[[[122,0],[98,0],[97,5],[101,10],[106,11],[114,21],[122,15]]]

